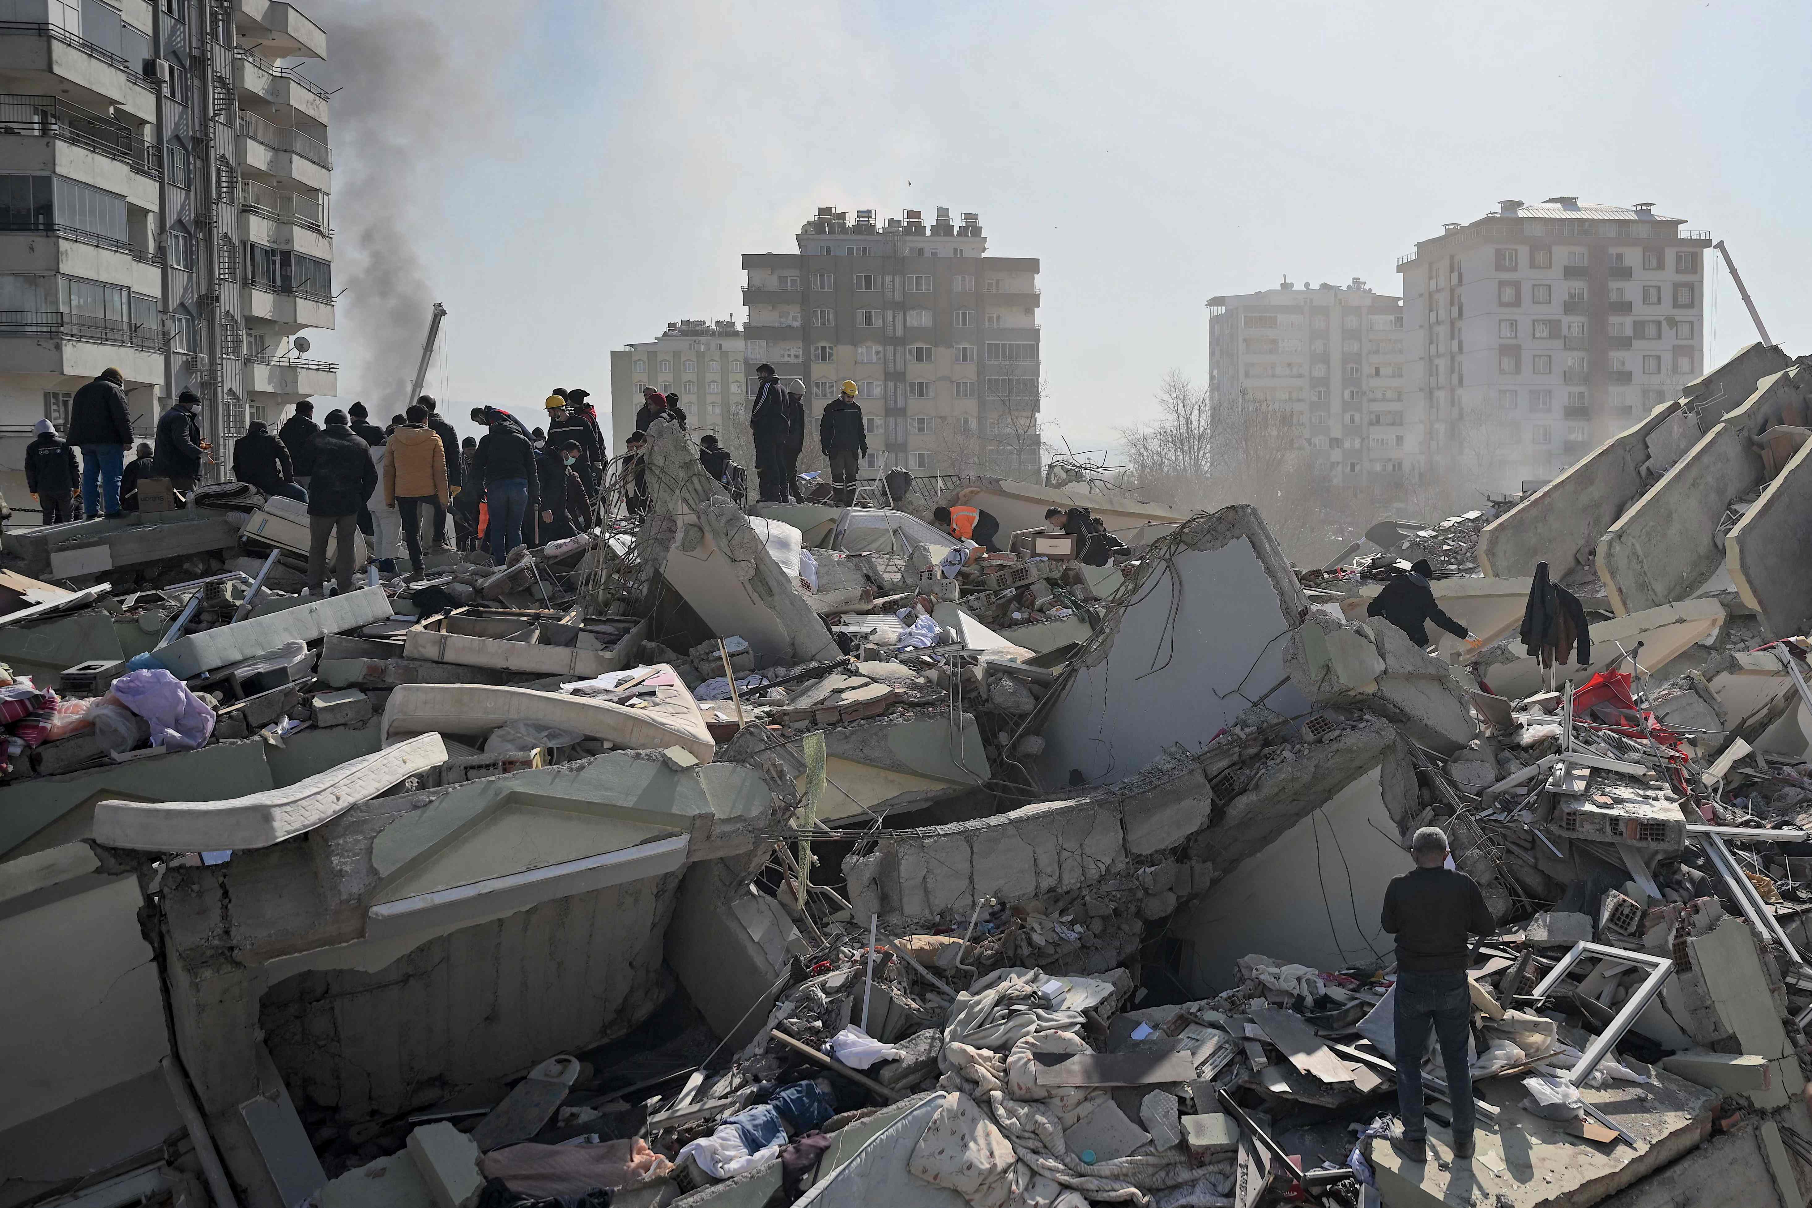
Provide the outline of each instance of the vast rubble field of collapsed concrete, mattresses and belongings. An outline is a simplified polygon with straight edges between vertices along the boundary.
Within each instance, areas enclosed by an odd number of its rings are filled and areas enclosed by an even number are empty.
[[[1540,692],[1542,491],[1316,570],[1109,500],[1096,565],[748,514],[649,436],[647,516],[324,599],[239,496],[130,581],[7,534],[0,1208],[1808,1203],[1812,643],[1741,585],[1584,592]],[[1475,643],[1366,614],[1406,554]],[[1495,933],[1479,1152],[1426,1074],[1408,1165],[1379,915],[1430,824]]]

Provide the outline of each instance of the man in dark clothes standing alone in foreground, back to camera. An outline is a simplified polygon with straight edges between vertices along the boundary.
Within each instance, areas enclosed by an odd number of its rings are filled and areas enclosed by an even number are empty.
[[[1433,1029],[1448,1070],[1453,1103],[1453,1157],[1473,1155],[1471,1069],[1466,1031],[1471,989],[1466,985],[1466,936],[1489,935],[1497,924],[1471,877],[1448,868],[1448,837],[1424,826],[1410,840],[1415,869],[1393,877],[1384,889],[1384,931],[1397,936],[1393,1000],[1397,1041],[1397,1114],[1402,1137],[1390,1145],[1412,1163],[1428,1161],[1428,1125],[1422,1121],[1422,1052]]]

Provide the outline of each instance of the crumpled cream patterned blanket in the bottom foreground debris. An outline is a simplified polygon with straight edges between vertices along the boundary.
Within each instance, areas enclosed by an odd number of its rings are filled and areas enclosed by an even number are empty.
[[[944,1027],[944,1103],[906,1168],[973,1208],[1230,1204],[1230,1159],[1190,1166],[1174,1145],[1085,1163],[1065,1145],[1064,1130],[1111,1096],[1100,1087],[1040,1087],[1033,1054],[1093,1052],[1082,1012],[1113,992],[1091,978],[998,969],[960,994]]]

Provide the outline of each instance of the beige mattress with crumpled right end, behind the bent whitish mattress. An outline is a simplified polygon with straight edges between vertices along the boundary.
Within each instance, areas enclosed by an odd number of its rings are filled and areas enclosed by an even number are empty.
[[[670,666],[665,663],[656,666],[667,672],[670,683],[656,688],[654,705],[649,708],[627,708],[533,688],[402,685],[384,705],[381,741],[395,743],[402,735],[428,730],[489,733],[509,721],[533,721],[605,739],[623,750],[683,746],[699,762],[710,762],[718,743],[705,728],[698,701]]]

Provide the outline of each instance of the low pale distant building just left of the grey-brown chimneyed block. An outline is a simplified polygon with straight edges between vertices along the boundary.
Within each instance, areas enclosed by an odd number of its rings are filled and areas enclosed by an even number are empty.
[[[748,400],[743,366],[743,326],[734,319],[681,319],[643,344],[611,353],[611,447],[636,427],[641,388],[680,395],[687,427],[694,436],[716,433],[737,460],[747,455]],[[754,469],[754,462],[743,460]]]

